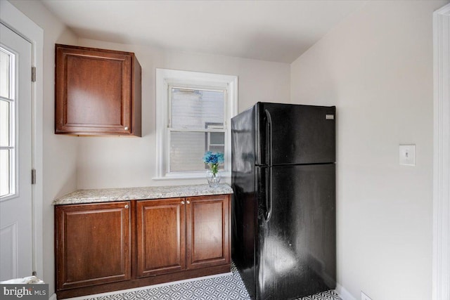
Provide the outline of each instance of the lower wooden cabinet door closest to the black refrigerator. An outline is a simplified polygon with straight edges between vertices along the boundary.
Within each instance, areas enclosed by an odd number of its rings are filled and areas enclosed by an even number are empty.
[[[186,200],[186,268],[230,263],[229,195]]]

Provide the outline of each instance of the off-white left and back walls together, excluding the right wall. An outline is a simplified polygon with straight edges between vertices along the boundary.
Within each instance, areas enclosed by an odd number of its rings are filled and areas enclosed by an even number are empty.
[[[290,65],[259,60],[163,51],[150,46],[78,39],[40,1],[10,0],[44,30],[44,275],[54,287],[53,206],[55,197],[78,188],[205,183],[153,181],[155,176],[155,68],[191,70],[239,77],[239,111],[257,101],[289,102]],[[142,138],[81,138],[54,132],[55,44],[133,51],[142,66]],[[38,178],[39,180],[39,178]]]

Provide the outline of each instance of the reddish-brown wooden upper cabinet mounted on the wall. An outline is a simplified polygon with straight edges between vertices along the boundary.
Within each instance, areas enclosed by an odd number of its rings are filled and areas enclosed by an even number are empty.
[[[134,53],[56,44],[55,133],[141,136]]]

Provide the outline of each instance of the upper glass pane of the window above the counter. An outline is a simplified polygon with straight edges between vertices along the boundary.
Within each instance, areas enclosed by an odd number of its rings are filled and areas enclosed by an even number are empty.
[[[172,88],[172,128],[224,128],[224,91]]]

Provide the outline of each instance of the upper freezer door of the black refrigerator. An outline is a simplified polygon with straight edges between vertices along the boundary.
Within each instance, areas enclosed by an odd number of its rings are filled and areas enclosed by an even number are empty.
[[[257,164],[335,162],[335,107],[258,103]],[[267,126],[270,115],[271,126]],[[271,134],[266,131],[270,129]],[[269,150],[271,136],[273,148]]]

